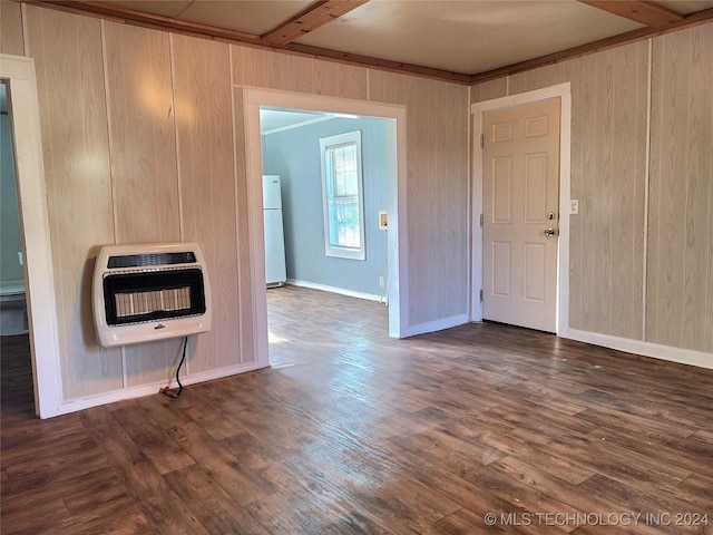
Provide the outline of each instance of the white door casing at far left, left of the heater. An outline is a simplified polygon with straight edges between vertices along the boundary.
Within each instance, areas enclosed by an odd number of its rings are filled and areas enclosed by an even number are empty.
[[[0,55],[0,78],[9,80],[10,86],[35,411],[40,418],[49,418],[62,414],[61,370],[35,62]]]

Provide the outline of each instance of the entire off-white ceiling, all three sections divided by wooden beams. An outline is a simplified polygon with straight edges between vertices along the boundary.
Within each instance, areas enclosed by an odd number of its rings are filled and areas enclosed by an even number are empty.
[[[107,0],[88,3],[240,31],[257,40],[307,9],[338,2]],[[713,0],[638,3],[642,8],[645,4],[667,8],[682,16],[713,9]],[[291,39],[287,48],[318,47],[469,76],[645,28],[577,0],[370,0],[341,17],[325,20],[330,21]]]

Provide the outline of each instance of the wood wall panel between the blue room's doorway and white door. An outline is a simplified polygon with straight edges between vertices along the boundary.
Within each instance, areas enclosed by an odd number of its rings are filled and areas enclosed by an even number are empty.
[[[372,100],[406,104],[410,324],[468,311],[468,89],[370,72]]]

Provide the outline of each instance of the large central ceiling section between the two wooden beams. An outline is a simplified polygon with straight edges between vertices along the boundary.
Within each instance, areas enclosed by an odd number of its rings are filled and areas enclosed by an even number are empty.
[[[372,0],[295,42],[476,74],[641,27],[575,0]]]

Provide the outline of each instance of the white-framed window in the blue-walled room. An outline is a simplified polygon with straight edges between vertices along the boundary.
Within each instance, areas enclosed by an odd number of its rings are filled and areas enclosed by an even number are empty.
[[[361,132],[320,139],[325,254],[364,260]]]

